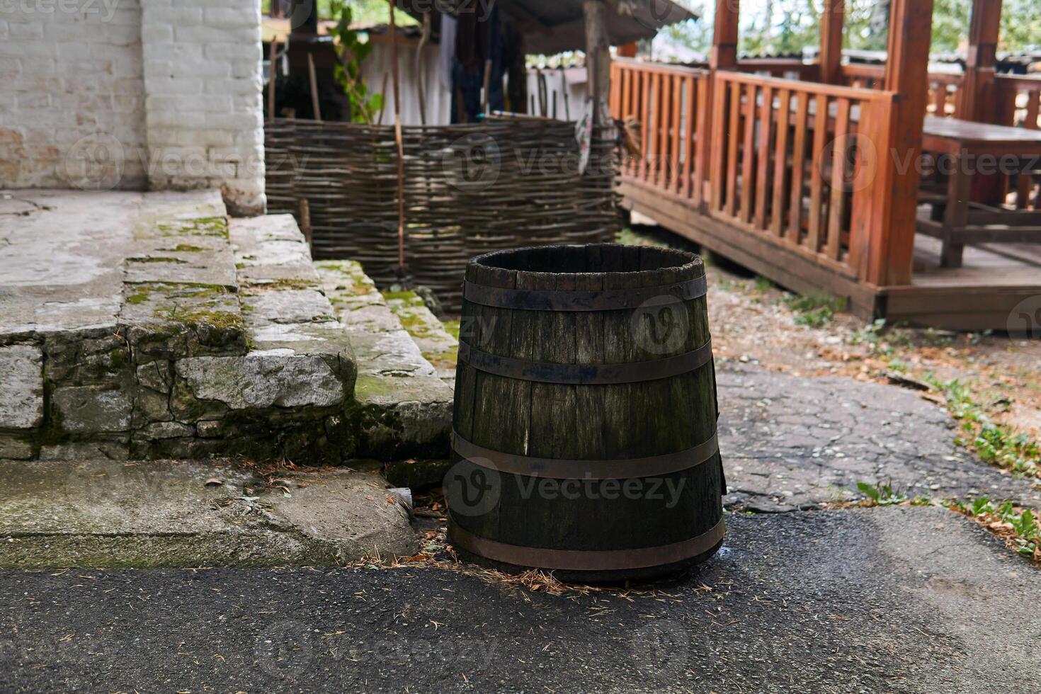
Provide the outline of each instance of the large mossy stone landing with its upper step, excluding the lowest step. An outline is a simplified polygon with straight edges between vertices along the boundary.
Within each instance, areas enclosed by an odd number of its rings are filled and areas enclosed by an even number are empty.
[[[229,226],[217,191],[19,196],[0,458],[355,456],[350,338],[291,217]]]

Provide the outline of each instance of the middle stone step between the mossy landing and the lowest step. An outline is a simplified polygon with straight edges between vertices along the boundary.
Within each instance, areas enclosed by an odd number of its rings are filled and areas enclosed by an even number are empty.
[[[198,435],[153,439],[147,457],[234,452],[325,464],[353,458],[346,412],[354,355],[321,291],[303,234],[290,215],[280,214],[232,220],[228,238],[248,350],[170,364]]]

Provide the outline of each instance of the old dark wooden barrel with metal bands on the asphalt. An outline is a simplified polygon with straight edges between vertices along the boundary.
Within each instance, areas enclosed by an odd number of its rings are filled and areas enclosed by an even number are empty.
[[[589,581],[711,557],[726,481],[702,259],[541,247],[479,256],[465,279],[453,546]]]

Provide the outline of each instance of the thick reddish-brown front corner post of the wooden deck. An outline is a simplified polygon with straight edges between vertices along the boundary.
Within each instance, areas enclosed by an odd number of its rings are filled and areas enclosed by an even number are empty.
[[[882,165],[874,182],[867,280],[910,284],[918,207],[918,162],[929,102],[929,50],[933,0],[892,0],[885,88],[896,93],[892,120],[879,132]]]

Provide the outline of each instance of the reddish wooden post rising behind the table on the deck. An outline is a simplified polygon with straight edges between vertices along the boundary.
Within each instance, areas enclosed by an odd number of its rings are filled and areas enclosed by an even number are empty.
[[[969,22],[969,50],[962,79],[958,118],[994,123],[997,38],[1001,26],[1001,0],[973,0]]]

